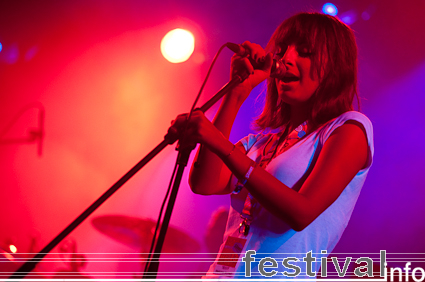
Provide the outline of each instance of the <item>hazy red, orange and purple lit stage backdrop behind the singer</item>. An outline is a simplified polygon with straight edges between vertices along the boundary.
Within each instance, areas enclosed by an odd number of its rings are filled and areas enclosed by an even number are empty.
[[[18,252],[39,251],[161,142],[170,121],[190,109],[222,44],[249,40],[265,46],[282,20],[295,12],[321,10],[323,4],[317,0],[2,1],[0,247],[7,249],[13,243]],[[376,257],[379,250],[425,252],[425,17],[421,14],[425,2],[335,4],[338,16],[345,17],[357,36],[359,94],[362,111],[374,125],[376,148],[369,177],[335,253]],[[178,27],[194,33],[196,46],[188,61],[171,64],[159,46],[165,33]],[[219,57],[200,103],[228,81],[230,57],[228,50]],[[247,121],[259,114],[262,100],[257,96],[262,89],[259,86],[241,109],[232,141],[253,132]],[[208,111],[208,117],[216,109]],[[41,139],[37,133],[43,113]],[[124,272],[136,277],[142,264],[125,259],[137,260],[142,247],[99,232],[93,220],[107,215],[156,220],[175,157],[174,146],[164,150],[79,226],[66,239],[67,245],[55,248],[48,256],[53,262],[42,262],[37,271],[52,277],[69,268],[61,252],[71,250],[71,245],[89,259],[80,270],[91,277],[102,271],[110,272],[111,278]],[[171,225],[187,236],[182,252],[191,247],[209,252],[208,223],[228,204],[228,196],[193,194],[186,172],[171,219]],[[149,242],[140,244],[145,247]],[[97,262],[93,253],[114,253],[116,259]],[[182,267],[198,277],[207,264]]]

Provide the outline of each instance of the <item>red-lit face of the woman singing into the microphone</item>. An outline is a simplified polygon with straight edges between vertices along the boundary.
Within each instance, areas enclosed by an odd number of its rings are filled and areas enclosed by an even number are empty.
[[[277,59],[286,68],[286,73],[275,78],[279,98],[291,106],[307,105],[319,86],[317,75],[311,71],[311,53],[306,46],[289,45],[278,50]],[[312,77],[313,76],[313,77]]]

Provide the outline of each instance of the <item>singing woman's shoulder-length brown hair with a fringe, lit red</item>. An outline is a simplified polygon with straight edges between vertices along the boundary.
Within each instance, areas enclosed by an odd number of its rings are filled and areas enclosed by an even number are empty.
[[[319,126],[340,114],[353,110],[357,97],[357,45],[350,27],[335,17],[320,13],[299,13],[275,30],[266,51],[275,53],[288,44],[306,44],[311,48],[311,71],[319,86],[309,100],[309,122]],[[313,73],[311,74],[313,75]],[[276,129],[290,119],[290,106],[278,105],[273,78],[267,81],[263,112],[254,121],[258,129]]]

